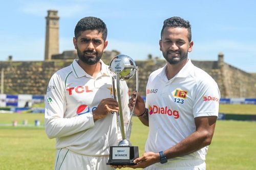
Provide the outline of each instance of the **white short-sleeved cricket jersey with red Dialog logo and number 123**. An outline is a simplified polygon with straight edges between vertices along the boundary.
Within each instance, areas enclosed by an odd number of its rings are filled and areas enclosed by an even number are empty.
[[[218,116],[220,91],[217,83],[190,59],[168,80],[164,67],[152,72],[146,86],[149,132],[145,151],[173,147],[196,131],[195,117]],[[205,160],[208,146],[172,160]]]

